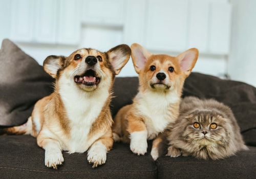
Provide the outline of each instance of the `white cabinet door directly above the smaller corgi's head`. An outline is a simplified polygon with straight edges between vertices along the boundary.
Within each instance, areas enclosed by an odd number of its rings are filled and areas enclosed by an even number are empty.
[[[187,39],[187,0],[148,1],[146,47],[183,51]]]

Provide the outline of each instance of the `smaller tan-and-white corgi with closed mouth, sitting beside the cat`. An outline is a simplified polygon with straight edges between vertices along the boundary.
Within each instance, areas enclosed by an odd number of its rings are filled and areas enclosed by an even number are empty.
[[[139,44],[131,46],[135,71],[139,74],[139,93],[133,104],[122,107],[115,119],[115,141],[130,143],[138,155],[147,151],[147,140],[153,140],[151,155],[158,158],[161,133],[179,115],[185,78],[194,68],[198,50],[189,49],[177,57],[153,55]]]

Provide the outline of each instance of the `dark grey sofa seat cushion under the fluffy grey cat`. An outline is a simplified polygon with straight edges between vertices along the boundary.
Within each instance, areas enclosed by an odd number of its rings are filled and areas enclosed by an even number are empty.
[[[158,178],[255,178],[256,147],[224,160],[198,160],[192,156],[161,156]]]

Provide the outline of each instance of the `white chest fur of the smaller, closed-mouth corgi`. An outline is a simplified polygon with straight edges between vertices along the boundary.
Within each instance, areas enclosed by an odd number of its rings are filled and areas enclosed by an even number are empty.
[[[139,93],[136,100],[137,110],[145,120],[147,138],[154,139],[170,122],[173,122],[170,106],[179,101],[179,96],[176,92],[145,92]]]

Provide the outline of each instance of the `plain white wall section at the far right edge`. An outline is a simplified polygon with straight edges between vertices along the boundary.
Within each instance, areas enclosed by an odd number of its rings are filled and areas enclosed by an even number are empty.
[[[256,1],[231,0],[233,7],[228,73],[256,86]]]

